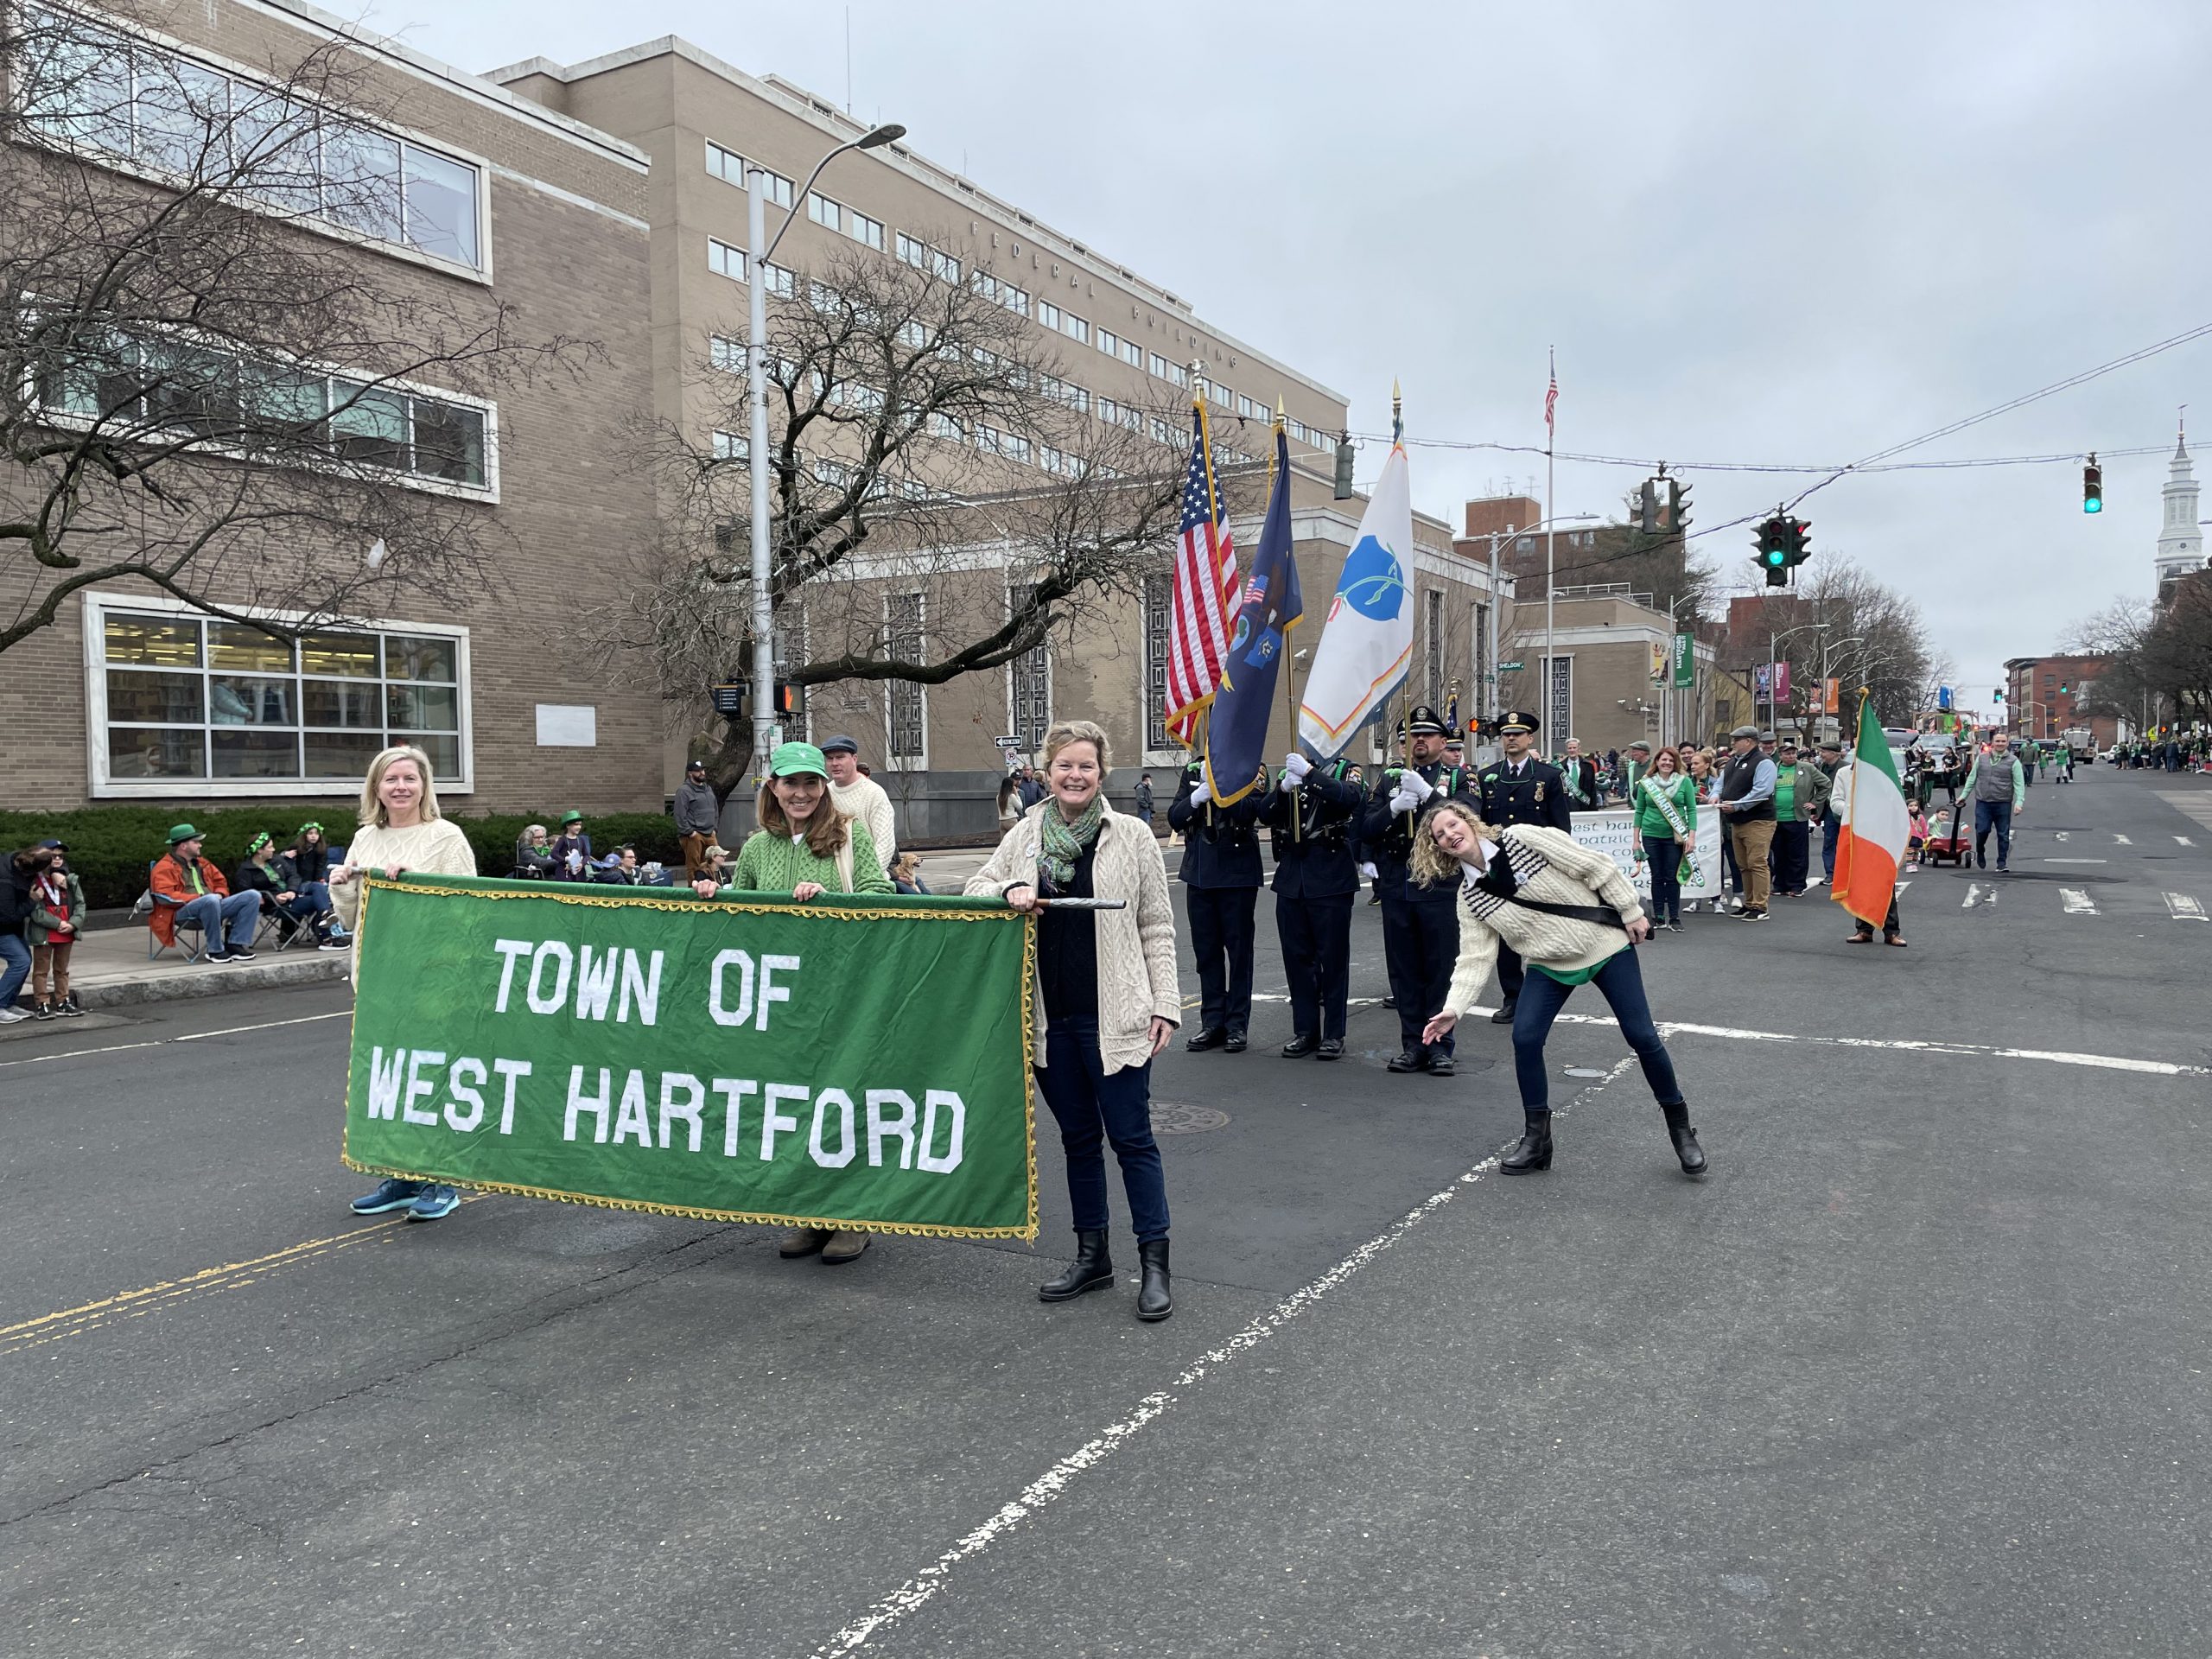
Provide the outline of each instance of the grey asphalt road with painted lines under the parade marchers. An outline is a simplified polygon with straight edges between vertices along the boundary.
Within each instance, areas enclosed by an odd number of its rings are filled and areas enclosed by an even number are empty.
[[[1500,1029],[1170,1051],[1152,1327],[1033,1298],[1053,1146],[1037,1252],[365,1223],[343,989],[11,1033],[0,1648],[2212,1652],[2212,790],[2039,785],[1907,951],[1776,905],[1644,953],[1703,1183],[1588,991],[1522,1181]]]

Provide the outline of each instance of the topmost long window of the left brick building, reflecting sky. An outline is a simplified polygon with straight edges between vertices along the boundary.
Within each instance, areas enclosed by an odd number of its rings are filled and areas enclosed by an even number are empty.
[[[55,27],[55,13],[31,13]],[[161,175],[221,184],[237,144],[265,157],[237,179],[279,212],[482,270],[482,173],[409,139],[354,126],[259,82],[71,18],[31,66],[24,115],[51,139]]]

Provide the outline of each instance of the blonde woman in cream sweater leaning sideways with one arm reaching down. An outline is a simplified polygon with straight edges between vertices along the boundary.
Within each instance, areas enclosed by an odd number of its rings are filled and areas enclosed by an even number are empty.
[[[1575,987],[1595,984],[1644,1064],[1644,1082],[1666,1113],[1683,1175],[1703,1175],[1705,1152],[1690,1128],[1690,1108],[1674,1084],[1674,1062],[1652,1024],[1637,969],[1635,947],[1650,938],[1650,920],[1619,865],[1544,825],[1493,832],[1469,807],[1447,801],[1429,812],[1413,838],[1413,878],[1460,883],[1460,960],[1444,1011],[1429,1022],[1422,1042],[1442,1037],[1473,1006],[1500,940],[1528,964],[1513,1006],[1513,1071],[1526,1130],[1500,1168],[1506,1175],[1551,1168],[1544,1040]]]

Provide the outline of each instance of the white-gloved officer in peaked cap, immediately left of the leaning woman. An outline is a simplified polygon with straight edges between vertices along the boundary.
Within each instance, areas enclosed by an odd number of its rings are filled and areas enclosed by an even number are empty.
[[[1451,1037],[1422,1046],[1420,1029],[1442,1011],[1451,991],[1451,967],[1460,956],[1458,889],[1451,885],[1420,887],[1409,880],[1413,834],[1420,814],[1447,794],[1467,794],[1467,772],[1444,763],[1444,721],[1427,703],[1416,703],[1407,723],[1413,768],[1394,765],[1360,812],[1360,845],[1380,874],[1383,894],[1383,960],[1389,967],[1391,1006],[1398,1009],[1402,1051],[1391,1071],[1427,1071],[1433,1077],[1453,1073]]]

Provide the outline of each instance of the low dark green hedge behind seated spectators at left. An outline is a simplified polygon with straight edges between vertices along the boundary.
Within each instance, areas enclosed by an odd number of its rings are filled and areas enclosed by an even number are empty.
[[[352,841],[358,818],[358,796],[343,801],[279,801],[274,805],[221,805],[188,810],[181,805],[115,805],[77,807],[75,812],[0,812],[0,852],[31,847],[40,841],[69,845],[69,863],[84,878],[84,898],[93,909],[128,909],[146,891],[146,867],[168,852],[168,830],[190,823],[206,834],[201,856],[226,876],[246,856],[246,843],[261,830],[290,845],[303,823],[321,823],[332,845]],[[542,823],[560,834],[560,812],[498,812],[489,816],[447,814],[476,847],[476,867],[487,876],[513,869],[515,838],[522,825]],[[606,854],[622,843],[637,847],[639,863],[659,858],[684,863],[675,821],[661,812],[608,812],[584,821],[595,852]],[[681,876],[684,872],[677,869]]]

